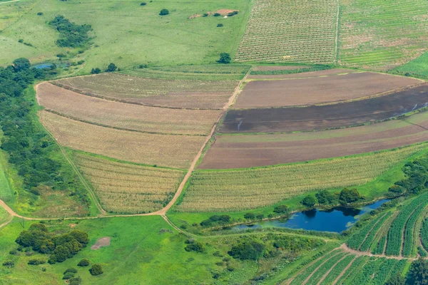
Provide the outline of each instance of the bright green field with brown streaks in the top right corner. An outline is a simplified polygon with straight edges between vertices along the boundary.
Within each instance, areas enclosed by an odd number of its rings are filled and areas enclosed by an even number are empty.
[[[341,1],[339,63],[385,71],[427,50],[424,0]]]

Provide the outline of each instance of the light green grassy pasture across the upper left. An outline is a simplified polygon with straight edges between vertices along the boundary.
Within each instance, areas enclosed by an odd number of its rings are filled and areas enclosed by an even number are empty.
[[[213,63],[221,52],[235,53],[250,10],[250,2],[246,0],[153,1],[146,6],[140,6],[138,1],[118,0],[26,2],[33,4],[32,9],[1,33],[5,44],[0,65],[21,56],[33,62],[50,61],[56,59],[57,53],[66,51],[56,46],[58,34],[46,24],[58,14],[76,24],[92,25],[94,44],[76,58],[86,60],[84,72],[97,66],[106,68],[110,62],[120,68],[141,63]],[[159,16],[164,8],[170,14]],[[213,16],[188,19],[193,14],[218,9],[238,9],[240,14],[228,19]],[[37,16],[37,12],[44,15]],[[2,21],[6,20],[0,18]],[[218,23],[224,26],[217,28]],[[19,38],[35,48],[18,43]]]

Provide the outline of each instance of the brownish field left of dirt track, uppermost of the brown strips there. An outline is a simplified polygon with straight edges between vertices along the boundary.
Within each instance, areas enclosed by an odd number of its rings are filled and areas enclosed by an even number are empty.
[[[142,105],[220,109],[238,81],[170,81],[103,73],[61,79],[54,84],[86,95]]]

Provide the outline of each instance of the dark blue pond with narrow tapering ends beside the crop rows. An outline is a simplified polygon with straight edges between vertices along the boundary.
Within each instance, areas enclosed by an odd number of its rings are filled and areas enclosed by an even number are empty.
[[[292,214],[289,219],[275,219],[257,222],[253,225],[240,224],[232,229],[258,229],[262,227],[287,227],[290,229],[306,229],[322,232],[343,232],[352,226],[357,219],[372,209],[377,209],[389,199],[382,199],[360,209],[335,207],[328,210],[311,209]]]

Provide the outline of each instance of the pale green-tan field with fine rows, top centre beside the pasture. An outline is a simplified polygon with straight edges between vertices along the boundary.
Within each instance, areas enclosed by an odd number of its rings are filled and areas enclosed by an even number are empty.
[[[256,0],[235,61],[332,63],[335,0]]]

